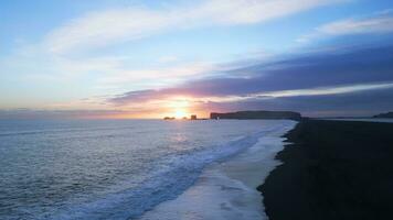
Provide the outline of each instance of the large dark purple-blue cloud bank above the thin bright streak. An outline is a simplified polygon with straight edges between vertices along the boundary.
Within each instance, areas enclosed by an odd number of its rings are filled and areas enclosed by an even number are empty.
[[[364,56],[368,54],[368,56]],[[393,46],[299,54],[272,63],[234,68],[214,78],[191,80],[157,94],[247,96],[258,92],[393,81]],[[242,77],[245,75],[246,77]],[[132,96],[135,97],[135,96]]]

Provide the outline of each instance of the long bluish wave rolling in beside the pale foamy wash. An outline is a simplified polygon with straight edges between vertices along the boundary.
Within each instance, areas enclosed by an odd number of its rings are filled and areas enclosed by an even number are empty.
[[[192,186],[202,169],[257,143],[258,138],[282,129],[274,125],[264,131],[232,140],[222,145],[166,156],[156,162],[150,178],[138,187],[102,196],[89,202],[70,202],[54,215],[41,219],[132,219],[158,204],[174,199]]]

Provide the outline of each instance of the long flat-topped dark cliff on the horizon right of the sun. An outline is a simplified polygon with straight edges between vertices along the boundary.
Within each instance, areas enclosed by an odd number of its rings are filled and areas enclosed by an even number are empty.
[[[294,111],[236,111],[227,113],[210,113],[211,119],[290,119],[299,121],[301,114]]]

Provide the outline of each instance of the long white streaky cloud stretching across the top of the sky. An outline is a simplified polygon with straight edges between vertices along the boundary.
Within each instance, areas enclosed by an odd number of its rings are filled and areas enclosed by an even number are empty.
[[[342,0],[205,0],[177,8],[126,8],[86,13],[45,38],[52,53],[135,41],[170,30],[266,22]]]

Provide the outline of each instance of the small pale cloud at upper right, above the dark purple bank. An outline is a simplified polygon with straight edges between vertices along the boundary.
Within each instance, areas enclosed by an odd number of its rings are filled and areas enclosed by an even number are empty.
[[[299,37],[298,42],[309,42],[323,36],[340,36],[351,34],[386,34],[393,32],[391,12],[378,13],[378,16],[363,19],[346,19],[323,24],[311,34]]]

